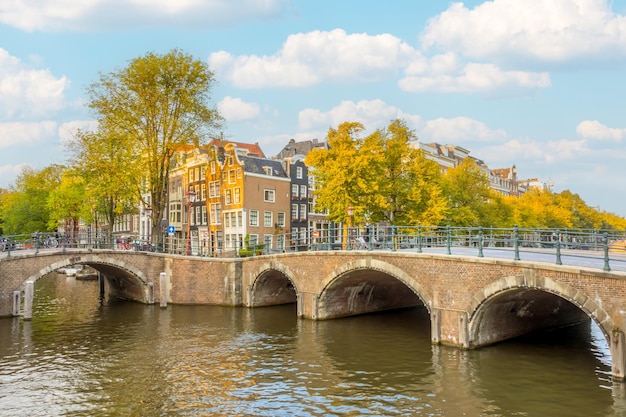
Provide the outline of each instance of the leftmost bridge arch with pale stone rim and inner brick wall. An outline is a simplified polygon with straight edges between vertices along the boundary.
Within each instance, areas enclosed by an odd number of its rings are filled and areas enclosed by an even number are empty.
[[[152,303],[154,294],[150,281],[143,271],[132,264],[106,255],[76,255],[53,262],[22,281],[24,288],[27,281],[37,281],[43,276],[60,268],[71,265],[87,265],[101,273],[108,292],[115,297]]]

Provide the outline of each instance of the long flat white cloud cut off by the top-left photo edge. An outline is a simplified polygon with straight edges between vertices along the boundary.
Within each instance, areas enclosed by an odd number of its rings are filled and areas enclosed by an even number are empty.
[[[107,28],[221,28],[280,17],[290,0],[13,0],[0,3],[0,23],[28,32]]]

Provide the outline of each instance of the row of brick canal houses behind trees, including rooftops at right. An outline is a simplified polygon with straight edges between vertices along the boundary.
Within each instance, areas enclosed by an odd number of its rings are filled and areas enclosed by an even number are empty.
[[[152,220],[141,207],[114,226],[117,236],[152,240],[178,253],[218,255],[262,244],[267,250],[294,250],[311,240],[336,243],[340,225],[315,209],[315,177],[304,158],[315,148],[326,148],[317,139],[291,139],[273,158],[267,158],[258,143],[214,139],[200,147],[181,148],[173,156],[168,182],[166,215],[161,235],[150,236]],[[453,145],[421,143],[427,158],[442,171],[470,157],[469,151]],[[492,188],[504,195],[521,195],[528,181],[518,181],[515,166],[485,170]]]

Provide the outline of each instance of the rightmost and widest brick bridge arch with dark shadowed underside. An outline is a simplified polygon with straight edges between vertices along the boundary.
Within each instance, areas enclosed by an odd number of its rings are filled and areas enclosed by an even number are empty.
[[[474,294],[468,309],[468,347],[478,348],[534,330],[595,321],[610,343],[615,325],[591,297],[567,283],[538,277],[509,276]]]

